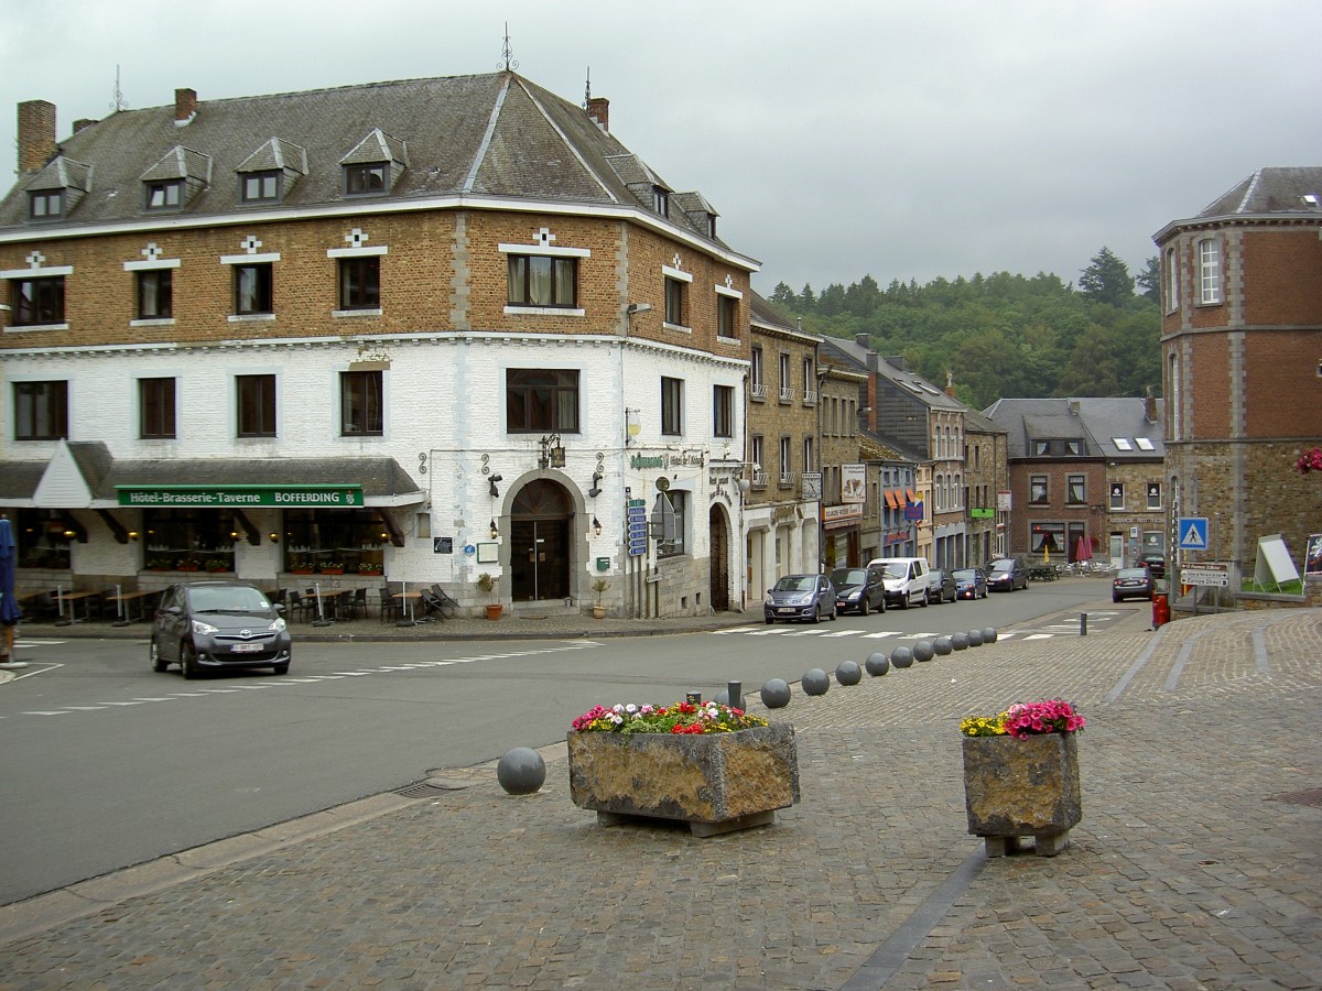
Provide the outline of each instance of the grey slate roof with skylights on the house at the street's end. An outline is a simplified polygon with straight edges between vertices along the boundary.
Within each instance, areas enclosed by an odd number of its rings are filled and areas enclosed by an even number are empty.
[[[1077,408],[1077,414],[1072,407]],[[1138,396],[1083,396],[1075,399],[998,399],[982,414],[1007,432],[1010,459],[1032,457],[1034,440],[1083,440],[1081,457],[1108,461],[1159,461],[1166,455],[1162,404],[1157,422],[1146,419],[1147,400]],[[1116,444],[1126,440],[1130,449]],[[1144,451],[1137,440],[1151,443]]]

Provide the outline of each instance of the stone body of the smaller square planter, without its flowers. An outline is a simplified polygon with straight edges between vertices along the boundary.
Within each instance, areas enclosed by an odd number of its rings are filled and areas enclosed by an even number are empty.
[[[1077,735],[964,737],[964,806],[988,856],[1015,852],[1022,836],[1059,854],[1083,818]]]

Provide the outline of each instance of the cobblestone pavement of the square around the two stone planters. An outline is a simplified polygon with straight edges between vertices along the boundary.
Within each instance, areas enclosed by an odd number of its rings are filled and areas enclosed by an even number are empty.
[[[534,795],[439,769],[469,786],[0,908],[0,988],[1319,988],[1322,610],[1146,618],[796,686],[771,827],[603,828],[563,744]],[[1052,696],[1083,822],[989,860],[957,721]]]

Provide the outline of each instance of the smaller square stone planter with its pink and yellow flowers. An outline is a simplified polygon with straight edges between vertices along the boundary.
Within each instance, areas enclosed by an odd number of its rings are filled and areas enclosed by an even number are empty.
[[[1011,706],[997,716],[969,716],[964,733],[964,805],[969,832],[988,856],[1019,850],[1054,856],[1083,818],[1077,733],[1084,717],[1060,699]]]

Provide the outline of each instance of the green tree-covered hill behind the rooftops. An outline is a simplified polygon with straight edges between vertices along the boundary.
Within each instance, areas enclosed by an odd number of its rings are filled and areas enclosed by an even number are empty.
[[[1141,295],[1134,293],[1138,284]],[[1059,276],[1009,272],[892,281],[870,275],[845,287],[795,293],[780,283],[771,301],[816,334],[867,334],[883,357],[984,410],[1002,396],[1126,396],[1161,391],[1157,259],[1138,277],[1101,248],[1077,288]]]

